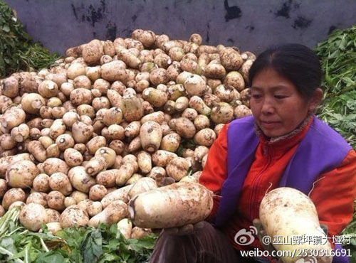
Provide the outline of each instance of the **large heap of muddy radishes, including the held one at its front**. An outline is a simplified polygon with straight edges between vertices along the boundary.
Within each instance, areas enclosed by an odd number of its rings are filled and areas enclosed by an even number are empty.
[[[197,182],[224,124],[251,114],[255,58],[195,33],[182,41],[137,29],[1,80],[0,216],[23,202],[32,231],[104,222],[133,238],[204,220],[211,193]],[[152,202],[195,216],[144,222]]]

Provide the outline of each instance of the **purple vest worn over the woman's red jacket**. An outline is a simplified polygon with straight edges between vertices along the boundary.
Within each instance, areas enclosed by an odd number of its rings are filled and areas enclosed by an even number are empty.
[[[215,225],[221,226],[236,212],[241,188],[255,157],[259,140],[253,117],[236,119],[227,130],[227,178],[221,188],[221,200]],[[340,165],[352,147],[316,116],[283,173],[279,187],[288,186],[308,195],[321,174]],[[337,245],[335,245],[335,249]],[[340,248],[340,247],[339,247]],[[333,262],[340,261],[338,258]]]

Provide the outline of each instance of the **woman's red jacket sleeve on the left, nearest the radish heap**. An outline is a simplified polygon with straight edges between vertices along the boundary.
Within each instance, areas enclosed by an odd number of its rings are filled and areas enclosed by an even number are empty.
[[[199,178],[199,183],[214,192],[214,206],[207,221],[214,221],[214,217],[219,208],[220,190],[226,179],[227,171],[227,129],[229,124],[225,124],[221,129],[218,138],[211,145],[203,172]]]

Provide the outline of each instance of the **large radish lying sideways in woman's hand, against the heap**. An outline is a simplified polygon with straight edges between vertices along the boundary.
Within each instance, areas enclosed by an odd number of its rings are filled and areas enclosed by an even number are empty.
[[[143,228],[168,228],[204,220],[213,207],[212,193],[199,183],[172,183],[130,200],[132,222]]]

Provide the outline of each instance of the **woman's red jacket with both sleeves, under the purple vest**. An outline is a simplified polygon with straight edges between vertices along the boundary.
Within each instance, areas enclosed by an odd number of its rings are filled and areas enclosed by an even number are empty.
[[[312,121],[313,119],[293,136],[287,136],[275,142],[267,141],[263,135],[259,136],[260,143],[256,149],[255,160],[244,181],[239,203],[236,204],[238,212],[223,229],[236,249],[249,250],[256,247],[263,249],[258,239],[249,246],[239,246],[234,242],[234,236],[241,229],[248,230],[253,225],[252,220],[258,218],[258,210],[263,196],[268,190],[278,187],[284,168],[308,132]],[[224,126],[211,146],[206,165],[199,179],[199,183],[216,194],[214,208],[208,220],[212,220],[216,215],[219,207],[218,195],[227,175],[226,131],[228,127],[229,124]],[[352,220],[355,193],[356,153],[351,150],[339,167],[328,173],[320,174],[310,192],[310,198],[318,211],[320,223],[328,225],[329,237],[339,235]]]

